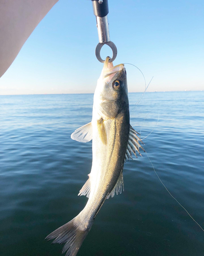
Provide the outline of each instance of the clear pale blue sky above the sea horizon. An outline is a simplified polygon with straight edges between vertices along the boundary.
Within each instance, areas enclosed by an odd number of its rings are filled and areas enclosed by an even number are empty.
[[[109,0],[118,56],[147,91],[204,90],[204,2]],[[59,0],[0,78],[0,95],[93,93],[103,64],[89,0]],[[101,55],[111,55],[104,47]],[[129,92],[144,91],[126,65]]]

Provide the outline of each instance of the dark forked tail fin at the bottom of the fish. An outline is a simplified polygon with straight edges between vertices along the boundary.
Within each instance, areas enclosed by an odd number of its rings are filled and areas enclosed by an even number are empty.
[[[78,216],[77,216],[78,217]],[[62,253],[66,252],[65,256],[77,255],[84,239],[86,238],[91,226],[85,228],[84,225],[75,217],[68,223],[59,227],[52,233],[48,234],[45,239],[55,239],[52,244],[64,244]]]

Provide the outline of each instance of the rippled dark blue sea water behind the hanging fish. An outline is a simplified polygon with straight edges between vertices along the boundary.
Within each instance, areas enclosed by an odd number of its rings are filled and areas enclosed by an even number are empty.
[[[129,94],[131,124],[162,182],[204,228],[204,92],[146,93],[135,108],[141,95]],[[92,144],[70,135],[91,121],[92,102],[93,94],[0,96],[1,256],[61,255],[62,245],[44,239],[87,202],[77,195]],[[204,232],[142,155],[125,163],[124,192],[100,209],[79,256],[204,255]]]

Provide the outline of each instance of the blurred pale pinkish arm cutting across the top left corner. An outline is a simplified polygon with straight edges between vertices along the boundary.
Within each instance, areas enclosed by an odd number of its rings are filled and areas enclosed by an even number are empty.
[[[0,0],[0,77],[58,0]]]

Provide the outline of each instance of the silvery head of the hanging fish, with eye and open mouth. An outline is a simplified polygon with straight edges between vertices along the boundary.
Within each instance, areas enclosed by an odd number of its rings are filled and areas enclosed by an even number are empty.
[[[104,62],[94,93],[94,107],[104,120],[113,119],[122,108],[129,106],[124,64],[113,66],[109,59]]]

